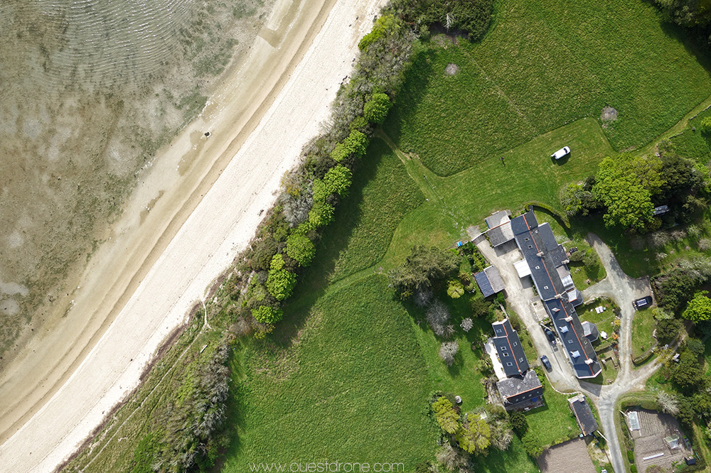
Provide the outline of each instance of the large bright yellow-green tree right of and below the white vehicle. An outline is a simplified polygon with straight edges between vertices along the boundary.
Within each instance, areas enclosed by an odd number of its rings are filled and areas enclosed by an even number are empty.
[[[607,207],[606,226],[619,225],[641,231],[653,221],[651,196],[661,190],[662,162],[656,156],[633,157],[622,153],[604,158],[592,192]]]

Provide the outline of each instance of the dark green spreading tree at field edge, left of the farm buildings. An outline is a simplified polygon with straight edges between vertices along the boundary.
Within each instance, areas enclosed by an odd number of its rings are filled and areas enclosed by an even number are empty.
[[[444,283],[459,268],[460,256],[453,251],[435,246],[415,246],[405,263],[390,271],[390,281],[400,295],[410,297]]]

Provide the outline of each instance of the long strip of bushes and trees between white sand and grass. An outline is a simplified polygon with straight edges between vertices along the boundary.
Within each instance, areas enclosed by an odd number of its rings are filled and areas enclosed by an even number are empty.
[[[383,122],[410,65],[414,33],[385,13],[360,42],[353,76],[339,89],[331,125],[304,148],[304,159],[282,178],[282,194],[227,282],[231,313],[262,337],[282,318],[281,305],[311,264],[324,227],[348,195],[353,171]],[[244,324],[242,324],[244,325]]]

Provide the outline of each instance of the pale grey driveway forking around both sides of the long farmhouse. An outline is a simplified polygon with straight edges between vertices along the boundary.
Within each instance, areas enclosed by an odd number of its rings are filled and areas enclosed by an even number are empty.
[[[655,360],[641,369],[634,370],[632,368],[632,319],[635,313],[632,301],[651,294],[651,288],[648,278],[634,279],[627,276],[620,268],[612,251],[597,235],[588,234],[587,241],[600,256],[600,260],[607,271],[607,276],[603,281],[582,291],[584,300],[604,295],[613,299],[621,310],[619,339],[621,366],[614,383],[607,386],[579,381],[575,378],[565,354],[548,342],[547,337],[540,329],[538,316],[536,315],[537,310],[542,310],[542,307],[533,305],[533,301],[538,298],[535,298],[528,278],[522,283],[513,267],[513,263],[521,259],[515,243],[510,241],[508,244],[493,249],[488,244],[488,241],[483,240],[477,244],[477,247],[501,273],[501,278],[506,284],[506,302],[509,308],[516,312],[526,325],[536,352],[539,355],[547,355],[551,360],[553,369],[547,373],[547,376],[552,386],[557,391],[582,391],[589,396],[597,407],[602,430],[608,440],[612,467],[615,472],[624,473],[624,460],[615,428],[615,403],[621,394],[643,389],[646,380],[659,367],[658,361]],[[540,304],[540,300],[538,303]]]

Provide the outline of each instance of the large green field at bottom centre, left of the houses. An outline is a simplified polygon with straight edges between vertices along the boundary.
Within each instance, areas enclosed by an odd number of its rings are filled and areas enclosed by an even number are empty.
[[[383,276],[327,293],[287,332],[245,352],[225,472],[326,459],[405,462],[410,471],[434,456],[423,413],[432,391],[427,360]]]

